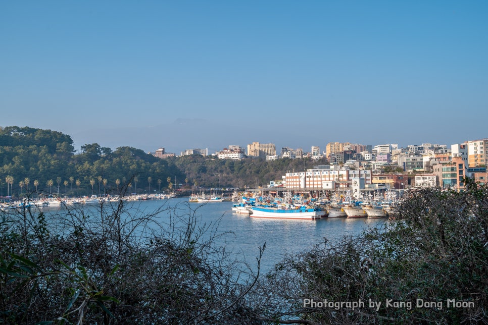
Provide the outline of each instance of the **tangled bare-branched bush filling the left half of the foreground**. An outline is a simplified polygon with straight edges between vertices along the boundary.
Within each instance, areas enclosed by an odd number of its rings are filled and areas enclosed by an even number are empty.
[[[257,319],[243,304],[257,275],[213,244],[215,229],[198,225],[188,204],[151,212],[125,204],[66,208],[55,216],[35,209],[5,213],[0,222],[0,321]],[[158,223],[163,212],[170,218]]]

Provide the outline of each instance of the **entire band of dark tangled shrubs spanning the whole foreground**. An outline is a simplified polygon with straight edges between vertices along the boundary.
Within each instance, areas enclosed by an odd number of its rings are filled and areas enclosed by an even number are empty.
[[[121,202],[0,222],[4,323],[487,323],[488,188],[412,190],[394,219],[286,256],[267,275],[189,205]],[[90,211],[90,212],[88,212]]]

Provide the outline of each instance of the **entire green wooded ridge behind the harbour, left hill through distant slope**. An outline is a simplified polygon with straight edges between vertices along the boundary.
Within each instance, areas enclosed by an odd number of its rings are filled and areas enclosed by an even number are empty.
[[[303,171],[325,160],[217,159],[189,155],[160,159],[133,147],[84,144],[74,154],[69,135],[29,127],[0,128],[0,194],[25,195],[34,189],[59,195],[153,193],[174,187],[255,187],[281,180],[287,171]],[[176,182],[176,185],[175,185]],[[182,184],[182,185],[179,185]]]

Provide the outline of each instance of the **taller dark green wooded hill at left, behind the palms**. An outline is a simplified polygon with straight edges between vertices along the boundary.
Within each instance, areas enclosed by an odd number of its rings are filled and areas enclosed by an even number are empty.
[[[60,195],[100,194],[115,192],[130,180],[129,190],[139,191],[138,186],[150,190],[151,182],[152,191],[158,185],[167,186],[168,177],[183,178],[173,163],[140,149],[119,147],[112,151],[97,143],[81,149],[82,153],[74,154],[73,140],[61,132],[16,126],[1,129],[2,194],[34,189]]]

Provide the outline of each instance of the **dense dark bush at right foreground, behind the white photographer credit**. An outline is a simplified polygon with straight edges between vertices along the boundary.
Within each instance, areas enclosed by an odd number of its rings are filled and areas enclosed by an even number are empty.
[[[286,257],[263,285],[281,302],[268,318],[488,322],[488,190],[466,182],[460,193],[412,190],[382,227]]]

